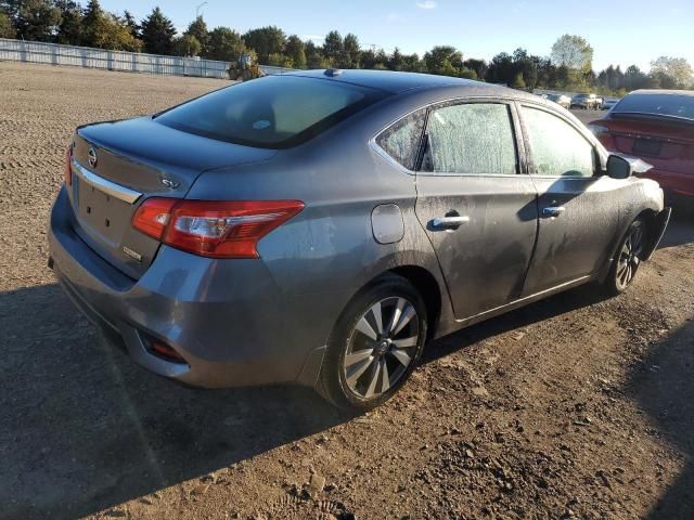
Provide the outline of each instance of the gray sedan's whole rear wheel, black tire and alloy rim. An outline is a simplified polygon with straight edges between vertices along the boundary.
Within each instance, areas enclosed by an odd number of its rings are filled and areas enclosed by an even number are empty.
[[[407,381],[422,355],[426,317],[426,306],[410,282],[393,274],[377,278],[337,320],[318,392],[350,412],[367,412],[386,402]]]

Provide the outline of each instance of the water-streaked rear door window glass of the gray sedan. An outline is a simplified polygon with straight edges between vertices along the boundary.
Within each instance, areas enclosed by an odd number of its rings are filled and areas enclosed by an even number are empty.
[[[422,171],[467,174],[517,172],[509,106],[467,103],[432,109]]]

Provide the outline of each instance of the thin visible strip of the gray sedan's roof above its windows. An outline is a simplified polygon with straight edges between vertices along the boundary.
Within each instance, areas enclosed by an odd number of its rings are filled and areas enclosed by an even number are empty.
[[[437,87],[462,87],[474,88],[479,90],[489,89],[491,95],[499,95],[502,89],[513,92],[519,98],[529,96],[526,92],[509,89],[503,86],[485,83],[483,81],[474,81],[472,79],[453,78],[450,76],[435,76],[433,74],[420,73],[397,73],[394,70],[363,70],[363,69],[343,69],[337,73],[330,73],[325,69],[319,70],[297,70],[285,73],[283,76],[301,76],[309,78],[320,78],[330,81],[339,81],[345,83],[358,84],[360,87],[369,87],[380,89],[390,93],[400,93],[413,89],[426,89]],[[506,92],[506,94],[509,93]]]

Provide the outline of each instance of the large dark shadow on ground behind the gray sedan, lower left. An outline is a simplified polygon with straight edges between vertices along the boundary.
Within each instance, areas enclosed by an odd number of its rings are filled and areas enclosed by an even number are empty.
[[[107,344],[57,285],[0,295],[0,518],[76,518],[347,420],[300,388],[196,390]]]

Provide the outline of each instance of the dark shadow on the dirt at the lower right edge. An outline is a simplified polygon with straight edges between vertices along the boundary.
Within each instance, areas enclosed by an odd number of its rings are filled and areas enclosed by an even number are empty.
[[[628,393],[686,465],[653,508],[651,520],[694,518],[694,321],[657,346],[632,374]],[[657,476],[658,468],[652,468]]]

